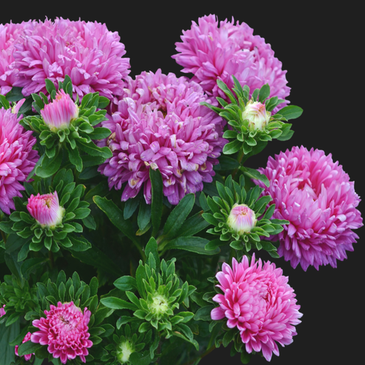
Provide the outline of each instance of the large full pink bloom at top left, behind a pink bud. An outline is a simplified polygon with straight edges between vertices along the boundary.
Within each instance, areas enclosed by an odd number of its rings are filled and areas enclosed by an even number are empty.
[[[97,91],[109,99],[122,95],[129,58],[123,58],[125,47],[117,32],[105,24],[63,18],[32,24],[14,45],[12,67],[18,69],[14,86],[23,87],[23,95],[47,92],[46,78],[57,85],[66,75],[79,97]]]

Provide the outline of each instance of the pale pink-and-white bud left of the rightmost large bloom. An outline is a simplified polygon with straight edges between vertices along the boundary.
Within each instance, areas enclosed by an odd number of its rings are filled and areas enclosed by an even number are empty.
[[[235,204],[227,219],[227,225],[240,236],[249,233],[257,222],[255,212],[246,204]]]

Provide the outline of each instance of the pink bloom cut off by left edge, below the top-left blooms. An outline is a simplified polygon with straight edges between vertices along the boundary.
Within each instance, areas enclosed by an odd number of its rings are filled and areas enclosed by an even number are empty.
[[[19,124],[21,118],[11,109],[0,109],[0,209],[10,214],[15,209],[14,197],[25,190],[21,182],[33,170],[39,156],[32,150],[36,138]]]

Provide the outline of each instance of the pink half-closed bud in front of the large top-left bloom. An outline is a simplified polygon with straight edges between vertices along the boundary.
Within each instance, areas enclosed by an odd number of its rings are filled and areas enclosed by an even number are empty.
[[[57,132],[59,129],[68,128],[71,121],[79,116],[79,108],[73,102],[70,95],[64,90],[58,90],[52,103],[46,104],[40,111],[43,121],[49,129]]]

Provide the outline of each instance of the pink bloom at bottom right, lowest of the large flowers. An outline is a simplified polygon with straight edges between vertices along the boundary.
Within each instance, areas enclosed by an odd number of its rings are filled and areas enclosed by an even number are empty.
[[[281,346],[292,343],[297,334],[294,325],[303,316],[288,277],[282,274],[275,264],[255,262],[255,254],[251,264],[247,256],[240,263],[233,258],[232,267],[224,263],[216,274],[223,294],[213,297],[219,307],[212,310],[212,319],[226,317],[227,327],[240,331],[246,351],[262,351],[267,361],[273,353],[279,355],[277,342]]]

